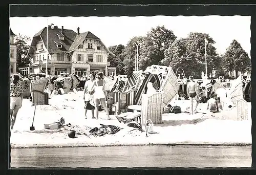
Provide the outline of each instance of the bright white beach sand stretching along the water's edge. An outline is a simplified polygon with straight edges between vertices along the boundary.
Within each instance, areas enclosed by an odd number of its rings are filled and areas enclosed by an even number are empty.
[[[163,114],[163,124],[154,125],[157,134],[140,132],[133,127],[119,123],[115,116],[112,120],[105,120],[106,114],[99,112],[99,120],[91,119],[91,111],[88,111],[88,119],[84,118],[84,102],[82,92],[70,92],[67,95],[55,95],[49,99],[50,105],[36,106],[34,126],[35,131],[30,131],[33,120],[34,107],[32,102],[24,99],[23,106],[19,110],[16,123],[11,132],[11,147],[62,147],[62,146],[105,146],[105,145],[147,145],[147,144],[251,144],[251,118],[247,121],[237,121],[237,109],[218,113],[215,117],[201,113],[189,115]],[[172,101],[171,104],[179,105],[182,111],[187,111],[188,100]],[[249,104],[250,106],[250,104]],[[199,104],[201,111],[205,110],[205,104]],[[200,111],[200,110],[199,110]],[[250,116],[250,108],[249,108]],[[78,125],[81,130],[87,127],[100,127],[102,124],[120,126],[121,129],[114,135],[102,137],[76,135],[71,139],[67,136],[69,127],[49,130],[44,129],[45,123],[56,122],[60,117],[65,118],[66,123]],[[88,130],[87,130],[88,132]],[[88,133],[89,134],[89,133]]]

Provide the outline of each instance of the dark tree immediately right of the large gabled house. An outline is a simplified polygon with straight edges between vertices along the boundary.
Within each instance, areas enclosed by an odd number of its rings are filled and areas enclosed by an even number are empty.
[[[110,54],[108,57],[108,61],[110,61],[110,66],[117,68],[117,74],[124,74],[124,70],[122,69],[124,67],[122,53],[124,50],[124,46],[111,46],[109,47],[109,50],[114,54]]]

